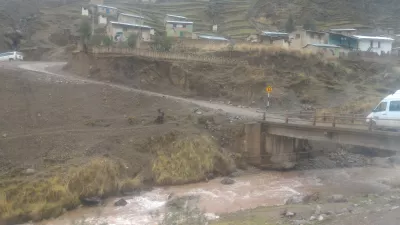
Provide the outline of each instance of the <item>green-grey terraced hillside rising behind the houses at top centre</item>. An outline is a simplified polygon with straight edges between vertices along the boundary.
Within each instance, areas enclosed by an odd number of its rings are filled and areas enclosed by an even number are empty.
[[[218,24],[218,33],[232,38],[245,38],[256,32],[248,20],[248,12],[256,0],[220,0],[223,5]],[[141,14],[145,17],[145,24],[153,26],[159,31],[164,30],[163,19],[165,14],[176,14],[187,17],[194,22],[194,31],[211,33],[212,20],[206,13],[208,1],[170,2],[157,4],[132,3],[120,0],[106,0],[106,5],[119,8],[127,13]]]

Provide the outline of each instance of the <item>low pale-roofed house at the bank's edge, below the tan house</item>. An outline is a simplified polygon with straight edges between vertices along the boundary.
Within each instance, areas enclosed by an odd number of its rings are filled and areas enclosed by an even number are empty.
[[[318,54],[325,59],[336,59],[338,57],[343,57],[349,52],[349,50],[340,46],[330,44],[307,44],[303,47],[303,50]]]

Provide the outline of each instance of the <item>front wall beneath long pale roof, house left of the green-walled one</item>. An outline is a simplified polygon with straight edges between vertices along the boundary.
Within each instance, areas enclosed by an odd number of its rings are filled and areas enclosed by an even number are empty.
[[[107,35],[114,41],[118,41],[116,39],[117,34],[122,34],[121,41],[126,41],[130,34],[139,34],[140,32],[142,33],[141,38],[143,41],[151,41],[150,29],[141,29],[139,27],[127,27],[115,24],[109,24],[107,26]]]

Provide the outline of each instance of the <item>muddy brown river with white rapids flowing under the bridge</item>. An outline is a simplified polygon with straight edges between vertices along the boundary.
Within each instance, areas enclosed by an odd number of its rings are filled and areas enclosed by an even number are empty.
[[[62,217],[43,221],[40,225],[86,224],[153,225],[162,218],[168,195],[197,195],[199,208],[211,219],[223,213],[258,206],[284,204],[290,196],[313,193],[322,195],[379,193],[389,187],[383,180],[399,179],[397,168],[348,168],[292,172],[255,172],[234,178],[232,185],[222,185],[221,178],[210,182],[155,188],[140,196],[125,197],[128,205],[115,207],[118,198],[109,199],[104,206],[82,207]]]

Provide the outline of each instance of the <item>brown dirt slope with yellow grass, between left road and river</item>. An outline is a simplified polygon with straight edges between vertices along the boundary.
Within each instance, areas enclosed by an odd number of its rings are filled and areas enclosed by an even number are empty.
[[[235,168],[229,149],[237,126],[225,116],[46,74],[3,69],[0,76],[0,224]],[[154,122],[157,109],[164,124]]]

